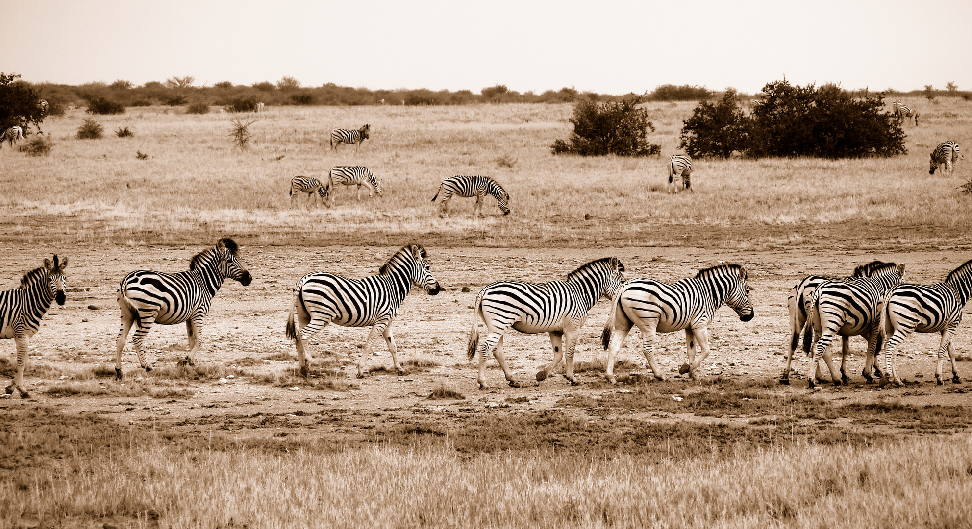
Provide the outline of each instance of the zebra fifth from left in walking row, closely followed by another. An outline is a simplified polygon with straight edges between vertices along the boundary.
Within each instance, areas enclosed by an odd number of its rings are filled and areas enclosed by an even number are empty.
[[[621,285],[611,304],[608,321],[601,334],[601,343],[608,349],[608,369],[605,378],[614,383],[614,359],[624,344],[632,325],[642,331],[642,350],[655,379],[665,375],[655,361],[654,343],[657,332],[671,333],[685,330],[688,363],[682,364],[679,374],[696,373],[709,356],[709,323],[722,304],[731,307],[739,318],[749,321],[755,315],[749,303],[746,269],[738,264],[721,264],[700,270],[694,278],[674,283],[639,279]],[[702,353],[695,359],[695,344]]]

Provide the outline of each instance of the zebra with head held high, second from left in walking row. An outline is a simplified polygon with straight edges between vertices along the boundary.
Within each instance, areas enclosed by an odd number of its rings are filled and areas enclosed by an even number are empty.
[[[146,372],[152,371],[152,367],[145,361],[145,335],[149,334],[153,323],[186,323],[190,350],[179,365],[193,365],[192,358],[199,349],[202,318],[209,312],[213,296],[226,279],[240,281],[243,286],[253,281],[250,272],[239,261],[236,243],[228,237],[220,239],[215,247],[193,255],[189,270],[185,272],[166,274],[137,270],[125,276],[119,283],[118,292],[121,331],[115,376],[121,379],[121,349],[132,323],[137,329],[131,341]]]

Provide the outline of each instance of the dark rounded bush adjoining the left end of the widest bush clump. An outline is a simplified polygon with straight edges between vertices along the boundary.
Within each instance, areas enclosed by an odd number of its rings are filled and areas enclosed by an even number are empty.
[[[716,104],[703,101],[682,121],[678,149],[692,156],[722,156],[743,152],[749,143],[752,120],[736,104],[736,90],[726,88]]]

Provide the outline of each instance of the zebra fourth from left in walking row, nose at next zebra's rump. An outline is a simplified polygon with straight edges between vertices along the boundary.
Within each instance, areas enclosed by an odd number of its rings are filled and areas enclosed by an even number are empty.
[[[510,327],[521,333],[550,333],[553,361],[537,374],[537,380],[546,379],[566,351],[567,372],[564,377],[571,380],[571,385],[579,384],[573,376],[573,347],[577,344],[580,328],[587,319],[587,313],[601,296],[611,298],[617,292],[624,281],[623,272],[624,265],[617,257],[605,257],[577,268],[567,275],[567,281],[496,281],[486,285],[479,291],[473,305],[472,330],[467,347],[471,362],[479,341],[476,325],[476,315],[479,315],[488,332],[482,344],[478,345],[479,388],[489,388],[486,384],[486,359],[491,351],[510,387],[520,387],[506,367],[503,356],[503,336]]]

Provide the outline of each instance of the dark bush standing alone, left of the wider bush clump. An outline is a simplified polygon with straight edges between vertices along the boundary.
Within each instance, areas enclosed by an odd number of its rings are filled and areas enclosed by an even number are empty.
[[[659,154],[661,146],[648,143],[648,112],[639,108],[642,96],[620,101],[596,103],[580,99],[573,106],[573,132],[568,141],[556,140],[554,154],[573,153],[583,156],[648,156]]]

